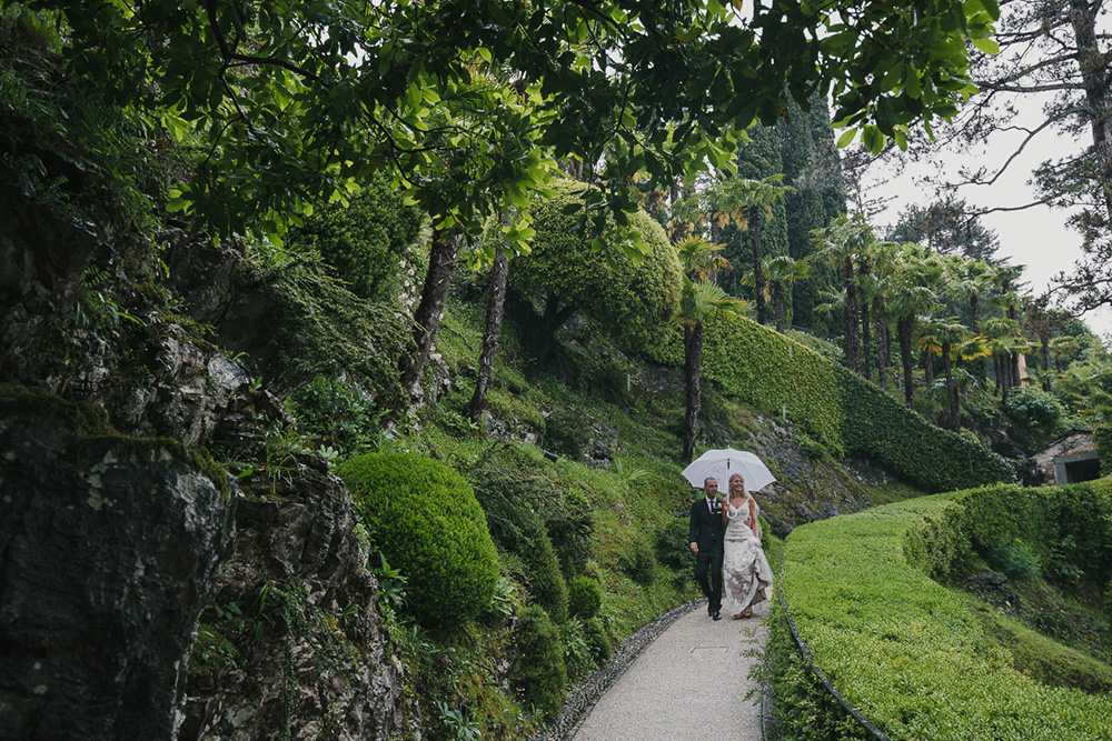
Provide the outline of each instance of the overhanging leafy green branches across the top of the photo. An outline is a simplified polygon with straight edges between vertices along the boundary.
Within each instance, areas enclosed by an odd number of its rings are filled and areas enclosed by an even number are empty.
[[[638,170],[724,164],[787,96],[832,92],[877,147],[970,94],[989,0],[36,0],[71,69],[200,148],[170,202],[218,232],[280,234],[375,171],[439,229],[525,213],[555,161],[595,167],[619,223]],[[672,136],[669,137],[669,131]],[[620,139],[622,156],[603,158]],[[623,216],[619,216],[623,214]],[[505,227],[528,238],[519,216]]]

